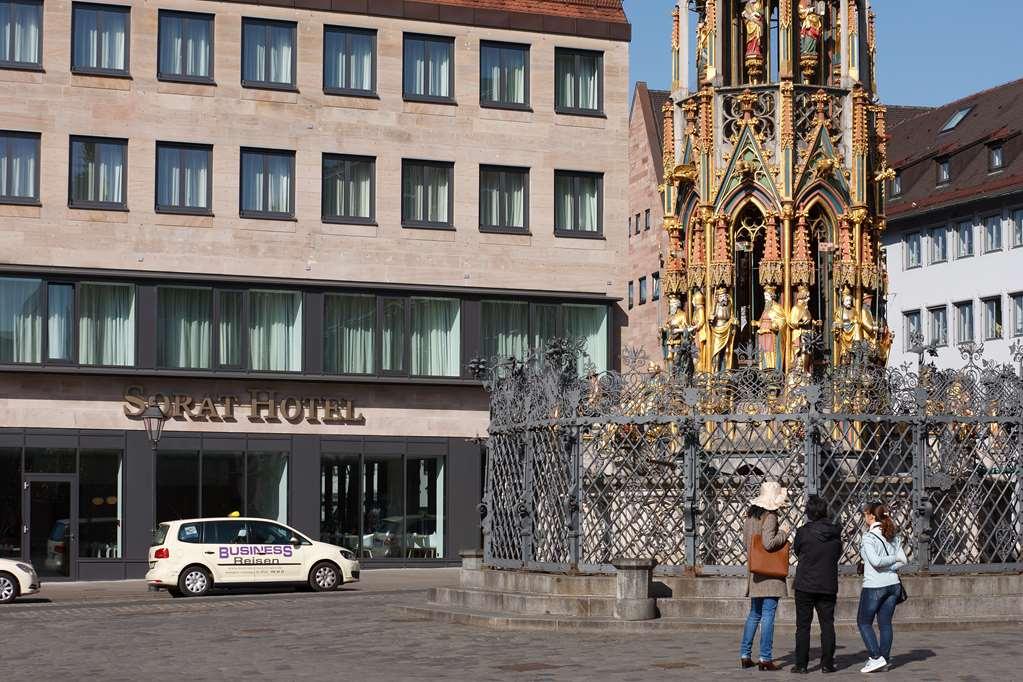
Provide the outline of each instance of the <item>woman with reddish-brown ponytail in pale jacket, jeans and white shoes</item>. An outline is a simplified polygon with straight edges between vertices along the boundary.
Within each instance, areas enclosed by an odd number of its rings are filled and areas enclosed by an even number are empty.
[[[859,593],[859,612],[856,624],[870,658],[860,670],[874,673],[884,670],[892,655],[892,617],[902,594],[898,570],[908,559],[902,542],[895,536],[895,521],[881,502],[863,507],[866,532],[859,542],[859,555],[863,559],[863,589]],[[878,622],[881,639],[874,632]]]

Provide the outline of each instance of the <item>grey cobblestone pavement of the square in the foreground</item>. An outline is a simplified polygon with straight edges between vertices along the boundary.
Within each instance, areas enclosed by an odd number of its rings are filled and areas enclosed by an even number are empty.
[[[476,630],[401,616],[452,571],[369,571],[332,594],[228,593],[170,599],[138,582],[62,585],[51,601],[0,609],[0,676],[39,679],[704,680],[792,679],[736,669],[735,636]],[[1017,629],[896,630],[887,680],[1023,679]],[[839,642],[838,678],[858,676],[858,641]],[[791,663],[791,643],[775,649]]]

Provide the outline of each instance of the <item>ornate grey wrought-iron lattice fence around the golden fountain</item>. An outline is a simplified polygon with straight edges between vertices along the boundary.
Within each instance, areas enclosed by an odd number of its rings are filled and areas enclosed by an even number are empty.
[[[1019,368],[964,347],[957,370],[853,354],[815,375],[692,376],[635,355],[598,374],[579,351],[474,363],[492,398],[489,565],[599,573],[654,556],[665,573],[741,574],[749,501],[770,480],[789,490],[790,529],[807,496],[828,500],[845,572],[874,500],[917,571],[1023,570],[1023,346]]]

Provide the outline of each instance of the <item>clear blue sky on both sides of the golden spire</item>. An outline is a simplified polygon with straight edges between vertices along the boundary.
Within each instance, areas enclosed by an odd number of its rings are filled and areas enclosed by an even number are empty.
[[[632,82],[671,83],[672,0],[625,0]],[[1023,0],[874,0],[878,82],[889,104],[942,104],[1023,78]]]

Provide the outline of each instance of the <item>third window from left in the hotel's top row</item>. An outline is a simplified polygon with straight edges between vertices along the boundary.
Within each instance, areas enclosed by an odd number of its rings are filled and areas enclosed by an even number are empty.
[[[157,78],[213,83],[213,14],[161,9],[158,41]]]

